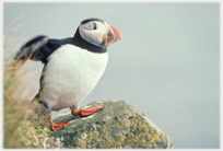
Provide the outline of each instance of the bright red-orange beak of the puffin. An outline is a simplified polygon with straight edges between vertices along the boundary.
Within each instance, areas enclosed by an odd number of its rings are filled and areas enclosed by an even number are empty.
[[[107,25],[107,27],[108,27],[107,45],[116,43],[122,38],[117,28],[115,28],[111,25]]]

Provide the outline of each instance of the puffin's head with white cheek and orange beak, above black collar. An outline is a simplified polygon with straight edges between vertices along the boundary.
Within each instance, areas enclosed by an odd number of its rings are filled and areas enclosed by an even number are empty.
[[[79,32],[83,39],[103,48],[121,39],[118,30],[95,18],[82,21]]]

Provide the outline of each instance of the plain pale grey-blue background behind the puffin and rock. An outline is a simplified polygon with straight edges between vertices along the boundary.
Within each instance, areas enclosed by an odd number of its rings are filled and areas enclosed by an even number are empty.
[[[108,47],[106,71],[81,106],[126,100],[165,133],[174,148],[220,147],[220,4],[218,3],[7,3],[4,25],[21,45],[33,36],[73,36],[84,19],[115,26],[122,40]],[[43,65],[31,62],[37,74]],[[32,72],[32,71],[31,71]],[[31,81],[30,81],[31,82]],[[32,82],[37,93],[38,77]],[[52,116],[67,113],[54,112]]]

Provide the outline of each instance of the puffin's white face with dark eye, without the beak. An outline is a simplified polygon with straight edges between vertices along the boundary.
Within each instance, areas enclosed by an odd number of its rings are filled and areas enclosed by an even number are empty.
[[[108,32],[108,25],[98,21],[91,21],[79,26],[80,35],[86,42],[99,46],[107,47],[108,36],[114,36],[114,33]],[[110,30],[109,30],[110,31]],[[105,38],[107,34],[107,38]]]

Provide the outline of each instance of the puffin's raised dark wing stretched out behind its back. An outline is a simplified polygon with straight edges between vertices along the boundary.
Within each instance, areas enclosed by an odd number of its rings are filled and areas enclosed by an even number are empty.
[[[21,47],[14,59],[22,62],[31,59],[46,63],[47,57],[61,45],[64,45],[64,40],[49,39],[44,35],[36,36]]]

